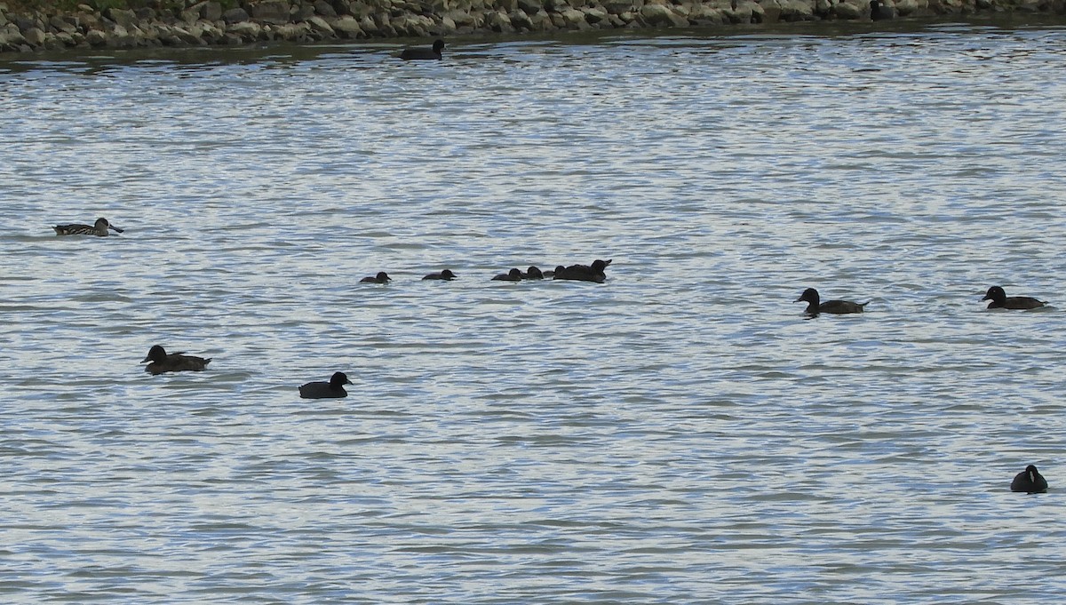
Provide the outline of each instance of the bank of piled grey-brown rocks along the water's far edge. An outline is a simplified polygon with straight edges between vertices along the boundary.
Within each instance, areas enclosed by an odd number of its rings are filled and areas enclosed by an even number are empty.
[[[884,5],[904,18],[1066,14],[1066,0]],[[869,19],[869,0],[147,0],[138,9],[72,10],[9,9],[0,2],[0,52]]]

